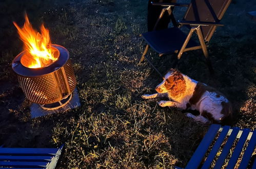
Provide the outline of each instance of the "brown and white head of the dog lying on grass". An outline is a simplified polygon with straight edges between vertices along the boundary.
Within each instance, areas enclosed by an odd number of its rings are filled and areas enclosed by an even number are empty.
[[[161,82],[156,88],[158,93],[171,93],[173,96],[184,93],[186,90],[186,82],[183,74],[175,69],[170,69],[163,77]]]

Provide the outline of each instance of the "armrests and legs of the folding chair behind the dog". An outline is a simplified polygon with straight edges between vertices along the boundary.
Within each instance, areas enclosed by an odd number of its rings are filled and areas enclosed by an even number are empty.
[[[163,17],[163,15],[166,11],[168,11],[168,14],[171,15],[171,13],[172,13],[171,7],[174,7],[174,6],[189,7],[189,5],[190,5],[190,4],[182,4],[182,3],[153,3],[153,2],[151,2],[151,4],[165,7],[165,8],[162,9],[162,11],[159,15],[159,18],[157,19],[157,22],[155,23],[154,30],[155,30],[157,24],[159,23],[159,20]],[[187,15],[187,14],[185,14],[185,15]],[[220,24],[219,22],[216,22],[216,23],[215,22],[198,22],[198,21],[188,21],[188,20],[178,21],[178,27],[179,28],[183,25],[189,25],[191,28],[190,28],[190,31],[189,31],[189,33],[188,33],[188,35],[187,35],[187,37],[186,37],[186,39],[185,39],[185,41],[182,45],[182,48],[180,50],[175,50],[174,51],[174,53],[178,53],[178,55],[177,55],[178,60],[180,60],[180,58],[181,58],[181,56],[184,52],[191,51],[191,50],[202,49],[203,54],[206,58],[206,64],[209,68],[209,71],[210,71],[210,73],[214,73],[212,65],[211,65],[211,61],[209,59],[209,54],[208,54],[208,51],[207,51],[208,41],[206,41],[203,37],[201,26],[224,26],[224,25]],[[198,35],[200,45],[195,46],[195,47],[186,48],[186,46],[187,46],[187,44],[188,44],[188,42],[189,42],[189,40],[190,40],[190,38],[191,38],[191,36],[194,32],[196,32],[196,34]],[[210,35],[210,37],[211,36],[212,35]],[[148,49],[149,49],[149,45],[146,45],[145,50],[144,50],[144,52],[141,56],[140,62],[142,62],[145,59],[145,55],[147,54]],[[160,57],[163,56],[163,55],[164,55],[164,53],[159,54]],[[178,63],[178,60],[175,62],[174,67]]]

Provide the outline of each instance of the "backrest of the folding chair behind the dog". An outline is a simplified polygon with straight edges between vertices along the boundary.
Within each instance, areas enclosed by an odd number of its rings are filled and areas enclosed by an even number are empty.
[[[192,0],[184,20],[201,22],[220,22],[231,0]],[[204,39],[209,41],[216,26],[202,26]]]

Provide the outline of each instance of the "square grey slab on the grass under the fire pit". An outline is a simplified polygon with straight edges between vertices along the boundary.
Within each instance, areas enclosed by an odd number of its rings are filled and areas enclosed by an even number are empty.
[[[60,113],[63,111],[67,111],[69,109],[74,109],[74,108],[80,107],[80,105],[81,104],[79,101],[77,90],[74,89],[74,91],[72,93],[72,98],[70,99],[70,101],[67,103],[67,105],[65,105],[64,107],[62,107],[60,109],[46,110],[46,109],[43,109],[40,104],[32,103],[31,107],[30,107],[31,118],[46,116],[48,114],[53,114],[53,113]]]

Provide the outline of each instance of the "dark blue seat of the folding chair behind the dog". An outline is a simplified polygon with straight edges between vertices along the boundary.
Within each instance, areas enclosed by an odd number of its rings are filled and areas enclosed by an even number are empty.
[[[180,50],[187,37],[179,28],[168,28],[159,31],[146,32],[142,37],[147,44],[157,53],[173,53]],[[196,41],[190,39],[186,48],[199,46]]]

